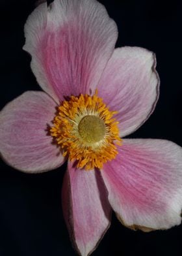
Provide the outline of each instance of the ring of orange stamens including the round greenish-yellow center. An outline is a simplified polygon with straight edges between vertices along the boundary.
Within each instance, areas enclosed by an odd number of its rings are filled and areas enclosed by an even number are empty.
[[[58,107],[50,133],[62,155],[75,161],[77,168],[101,169],[116,157],[122,145],[118,121],[113,118],[116,113],[109,110],[97,91],[93,96],[71,96]]]

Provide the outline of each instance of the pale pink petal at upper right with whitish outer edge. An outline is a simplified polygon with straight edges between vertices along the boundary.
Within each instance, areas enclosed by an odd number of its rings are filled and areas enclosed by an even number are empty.
[[[120,136],[133,133],[153,112],[159,97],[159,77],[155,71],[155,55],[138,47],[123,47],[114,51],[98,92],[117,110]]]

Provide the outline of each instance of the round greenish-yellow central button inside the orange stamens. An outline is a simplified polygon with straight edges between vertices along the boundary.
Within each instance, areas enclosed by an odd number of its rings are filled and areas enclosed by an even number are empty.
[[[79,122],[79,134],[85,142],[99,142],[104,138],[105,133],[105,123],[98,116],[85,116]]]

